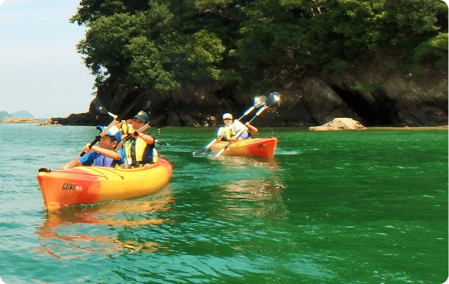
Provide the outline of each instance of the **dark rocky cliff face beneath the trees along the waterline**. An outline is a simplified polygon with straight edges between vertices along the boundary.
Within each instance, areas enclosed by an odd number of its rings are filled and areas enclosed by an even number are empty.
[[[152,92],[152,107],[166,107],[172,126],[214,126],[221,115],[241,115],[252,97],[277,91],[282,102],[254,120],[263,126],[316,126],[335,117],[348,117],[365,126],[433,126],[448,124],[448,68],[423,65],[414,73],[397,71],[398,62],[386,52],[370,54],[364,62],[322,73],[271,67],[271,88],[264,93],[239,93],[234,85],[212,80],[185,81],[178,92]],[[108,84],[97,97],[117,110],[129,86]],[[251,116],[243,120],[249,120]],[[52,118],[60,124],[109,124],[111,118],[94,107],[85,114]]]

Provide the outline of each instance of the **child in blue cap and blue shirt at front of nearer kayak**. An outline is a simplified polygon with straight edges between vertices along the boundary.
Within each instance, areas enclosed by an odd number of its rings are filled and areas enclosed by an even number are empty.
[[[97,126],[98,130],[103,131],[104,126]],[[86,153],[73,166],[102,166],[115,167],[121,165],[125,161],[125,153],[123,150],[115,151],[117,144],[122,140],[122,133],[113,126],[106,135],[101,137],[98,146],[92,146],[89,149],[89,143],[84,146],[83,151]]]

